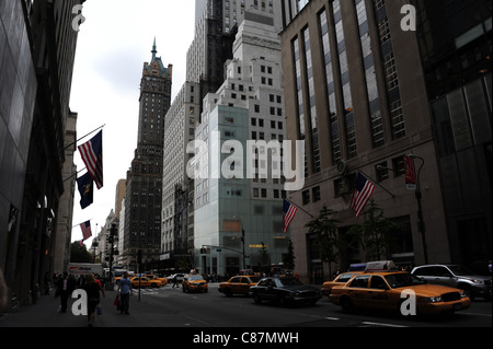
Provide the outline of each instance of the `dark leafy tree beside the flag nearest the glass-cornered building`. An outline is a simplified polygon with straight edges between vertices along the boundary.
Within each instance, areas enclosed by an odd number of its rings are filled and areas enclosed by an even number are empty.
[[[313,218],[305,226],[308,228],[310,234],[314,234],[317,252],[320,259],[329,264],[329,276],[332,275],[331,263],[337,260],[339,246],[341,240],[337,236],[339,220],[331,218],[335,211],[330,210],[324,205],[320,210],[319,217]]]

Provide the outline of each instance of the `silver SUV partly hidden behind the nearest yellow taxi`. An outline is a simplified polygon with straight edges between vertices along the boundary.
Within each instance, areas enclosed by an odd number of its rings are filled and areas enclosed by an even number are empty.
[[[434,264],[415,267],[411,272],[428,283],[465,290],[471,299],[482,296],[491,300],[491,277],[474,275],[463,266]]]

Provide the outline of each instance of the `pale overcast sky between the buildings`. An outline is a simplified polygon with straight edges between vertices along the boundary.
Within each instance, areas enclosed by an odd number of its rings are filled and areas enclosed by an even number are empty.
[[[81,210],[80,195],[76,193],[73,225],[91,220],[93,236],[114,209],[116,184],[126,178],[134,159],[139,84],[144,62],[151,59],[153,39],[164,66],[173,65],[174,100],[185,81],[194,11],[194,0],[91,0],[83,4],[85,21],[79,31],[70,108],[79,115],[78,138],[105,125],[104,186],[94,191],[94,203],[85,210]],[[80,140],[78,146],[92,136]],[[78,171],[84,168],[79,152],[74,162]],[[81,239],[81,230],[73,228],[72,241]],[[90,247],[91,243],[89,240],[85,245]]]

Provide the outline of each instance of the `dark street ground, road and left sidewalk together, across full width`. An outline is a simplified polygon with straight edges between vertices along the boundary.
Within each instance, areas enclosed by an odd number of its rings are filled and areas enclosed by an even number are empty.
[[[317,327],[491,327],[491,302],[478,299],[471,306],[452,315],[421,318],[402,317],[391,313],[355,311],[343,313],[322,298],[314,306],[280,307],[277,304],[255,304],[243,295],[225,296],[218,283],[210,283],[207,293],[184,293],[170,284],[160,289],[134,290],[130,315],[116,312],[113,301],[116,292],[106,292],[102,301],[103,315],[95,327],[238,327],[238,328],[317,328]],[[140,299],[140,300],[139,300]],[[83,318],[72,314],[56,314],[58,300],[42,296],[41,304],[22,306],[19,313],[0,317],[0,327],[83,327]],[[31,316],[36,309],[46,314]],[[71,302],[69,301],[69,304]],[[27,318],[26,315],[30,317]],[[43,318],[43,316],[45,318]],[[65,316],[65,318],[64,318]],[[80,316],[82,317],[82,316]],[[60,318],[62,323],[60,323]],[[67,321],[68,319],[68,321]]]

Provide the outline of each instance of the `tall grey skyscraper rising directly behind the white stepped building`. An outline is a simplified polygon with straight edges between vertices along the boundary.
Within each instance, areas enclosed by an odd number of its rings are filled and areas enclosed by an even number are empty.
[[[256,11],[256,15],[268,15],[267,21],[274,32],[280,28],[280,5],[274,9],[273,1],[195,1],[195,35],[186,56],[186,82],[173,101],[165,120],[163,268],[173,267],[177,258],[191,260],[194,251],[195,185],[186,174],[185,165],[192,156],[186,153],[186,146],[194,139],[194,129],[202,121],[204,97],[218,91],[226,79],[225,65],[233,58],[238,26],[248,9]]]

